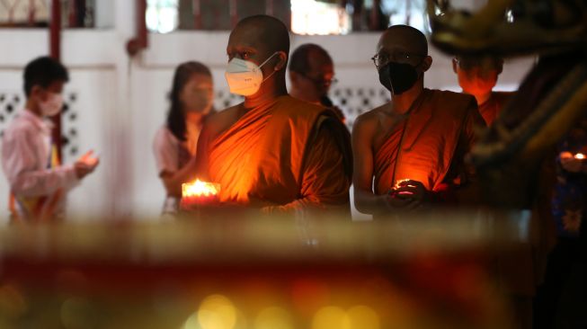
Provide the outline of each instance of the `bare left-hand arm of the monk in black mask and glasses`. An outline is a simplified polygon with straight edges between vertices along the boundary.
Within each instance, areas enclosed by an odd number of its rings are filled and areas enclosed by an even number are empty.
[[[373,192],[373,148],[377,122],[359,117],[352,128],[352,153],[354,174],[355,207],[362,213],[378,214],[394,207],[402,208],[406,200],[389,197],[387,194],[377,195]]]

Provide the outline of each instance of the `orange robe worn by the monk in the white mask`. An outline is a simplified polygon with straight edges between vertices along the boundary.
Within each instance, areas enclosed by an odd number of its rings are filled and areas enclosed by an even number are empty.
[[[222,202],[261,201],[269,211],[349,207],[349,133],[320,106],[280,96],[203,144],[198,153],[208,155],[205,171]]]

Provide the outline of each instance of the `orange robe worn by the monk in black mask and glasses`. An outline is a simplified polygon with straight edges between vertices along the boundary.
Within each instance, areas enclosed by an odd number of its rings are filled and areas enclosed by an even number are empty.
[[[421,97],[375,152],[377,194],[405,179],[422,182],[429,191],[445,191],[470,178],[464,156],[475,142],[474,127],[485,126],[475,98],[429,89]]]

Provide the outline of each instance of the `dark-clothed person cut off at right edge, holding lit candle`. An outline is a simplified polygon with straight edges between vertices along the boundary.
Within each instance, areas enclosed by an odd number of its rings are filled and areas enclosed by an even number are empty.
[[[535,328],[584,327],[587,307],[587,119],[556,147],[552,218],[556,245],[548,253],[534,306]]]

